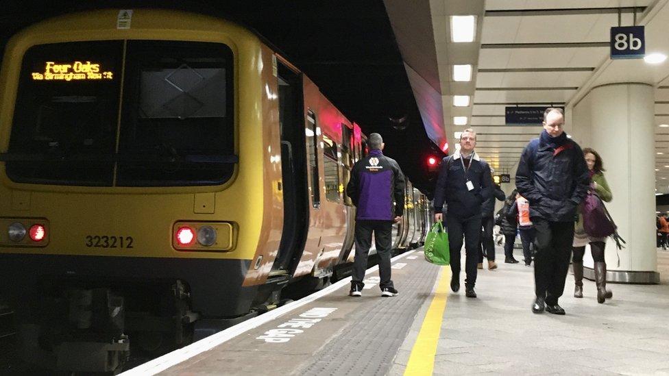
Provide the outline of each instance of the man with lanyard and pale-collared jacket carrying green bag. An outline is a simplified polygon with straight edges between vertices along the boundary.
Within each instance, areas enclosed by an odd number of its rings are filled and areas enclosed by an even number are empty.
[[[465,296],[476,297],[476,264],[481,236],[481,207],[491,196],[490,166],[474,152],[476,132],[465,129],[460,137],[460,150],[443,158],[435,188],[435,221],[441,221],[446,203],[446,226],[450,246],[452,277],[450,288],[460,289],[460,251],[465,240]]]

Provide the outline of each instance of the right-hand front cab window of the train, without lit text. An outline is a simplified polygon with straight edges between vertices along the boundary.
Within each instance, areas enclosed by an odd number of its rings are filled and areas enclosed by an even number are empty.
[[[207,42],[127,42],[119,186],[222,184],[232,177],[232,51]]]

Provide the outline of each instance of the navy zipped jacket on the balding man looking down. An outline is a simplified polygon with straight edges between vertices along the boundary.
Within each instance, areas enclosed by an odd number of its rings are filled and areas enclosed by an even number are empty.
[[[583,151],[564,133],[550,137],[542,131],[520,155],[515,186],[530,201],[530,218],[574,222],[589,184]]]

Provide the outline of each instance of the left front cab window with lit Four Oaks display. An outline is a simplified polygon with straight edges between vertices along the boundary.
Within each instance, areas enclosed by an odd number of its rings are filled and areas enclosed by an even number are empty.
[[[23,55],[7,174],[17,182],[110,186],[123,42],[36,45]]]

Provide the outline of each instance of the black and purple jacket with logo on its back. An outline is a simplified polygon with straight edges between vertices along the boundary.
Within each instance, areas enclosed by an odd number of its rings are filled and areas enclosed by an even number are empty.
[[[380,150],[353,165],[346,195],[356,205],[356,219],[392,221],[404,213],[404,174]]]

